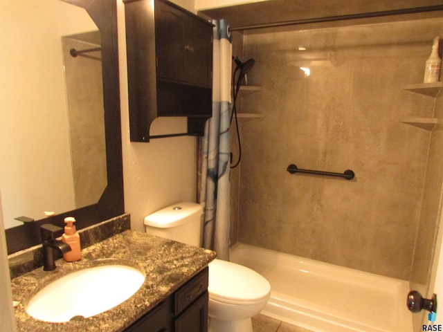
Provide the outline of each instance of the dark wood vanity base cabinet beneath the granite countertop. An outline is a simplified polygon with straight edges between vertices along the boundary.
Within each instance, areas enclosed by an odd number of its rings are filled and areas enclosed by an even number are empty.
[[[146,331],[208,331],[208,268],[125,330]]]

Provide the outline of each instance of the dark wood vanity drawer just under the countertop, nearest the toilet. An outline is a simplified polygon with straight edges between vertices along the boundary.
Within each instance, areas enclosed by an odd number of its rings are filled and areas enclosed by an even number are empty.
[[[208,290],[208,268],[193,277],[174,294],[174,314],[179,315],[201,294]]]

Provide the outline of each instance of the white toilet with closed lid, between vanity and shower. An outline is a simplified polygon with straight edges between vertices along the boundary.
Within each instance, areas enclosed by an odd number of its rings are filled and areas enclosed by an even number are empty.
[[[170,205],[145,217],[146,232],[199,246],[202,213],[197,203]],[[215,259],[209,264],[208,293],[208,331],[253,332],[251,317],[264,308],[271,285],[250,268]]]

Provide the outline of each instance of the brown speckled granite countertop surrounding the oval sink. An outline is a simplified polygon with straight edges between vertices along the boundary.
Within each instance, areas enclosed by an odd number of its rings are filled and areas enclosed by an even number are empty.
[[[150,311],[165,297],[174,293],[192,276],[215,259],[215,252],[184,243],[153,237],[149,234],[127,230],[82,250],[82,259],[66,263],[58,259],[57,268],[51,272],[37,268],[11,280],[17,331],[124,331],[129,325]],[[30,296],[53,279],[72,271],[100,264],[101,259],[114,258],[132,261],[145,272],[145,282],[138,291],[122,304],[93,317],[65,323],[43,322],[30,317],[25,306]],[[95,261],[98,260],[98,261]],[[113,260],[111,260],[113,261]],[[60,303],[69,292],[60,294]]]

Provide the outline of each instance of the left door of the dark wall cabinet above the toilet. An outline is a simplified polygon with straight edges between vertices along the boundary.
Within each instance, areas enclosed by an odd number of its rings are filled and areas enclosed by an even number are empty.
[[[157,78],[185,81],[184,31],[181,10],[155,1],[155,46]]]

